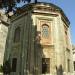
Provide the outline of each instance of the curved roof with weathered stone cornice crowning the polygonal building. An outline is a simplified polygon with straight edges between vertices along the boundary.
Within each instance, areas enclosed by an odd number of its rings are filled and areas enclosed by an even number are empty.
[[[48,11],[48,12],[55,12],[55,13],[57,12],[57,13],[61,14],[61,16],[64,18],[64,20],[68,23],[68,25],[70,24],[68,18],[64,14],[63,10],[60,7],[58,7],[52,3],[44,3],[44,2],[38,2],[36,4],[29,3],[27,5],[24,5],[19,10],[21,10],[21,11],[19,11],[19,15],[21,15],[27,11],[34,11],[34,10]],[[18,13],[16,12],[16,14],[18,14]]]

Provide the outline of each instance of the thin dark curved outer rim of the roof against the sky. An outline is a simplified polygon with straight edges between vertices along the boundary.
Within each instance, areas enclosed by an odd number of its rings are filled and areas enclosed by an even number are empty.
[[[47,2],[29,3],[29,4],[22,6],[21,9],[28,11],[29,9],[35,8],[35,5],[38,5],[38,4],[44,4],[44,5],[49,5],[49,6],[55,7],[56,9],[58,9],[59,13],[64,17],[64,19],[67,21],[67,23],[70,25],[70,21],[67,18],[67,16],[65,15],[65,13],[63,12],[63,10],[60,7],[58,7],[57,5],[52,4],[52,3],[47,3]]]

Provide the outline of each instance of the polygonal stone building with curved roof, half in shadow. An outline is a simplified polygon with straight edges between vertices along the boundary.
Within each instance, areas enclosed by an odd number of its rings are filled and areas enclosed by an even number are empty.
[[[70,23],[54,4],[31,3],[11,20],[5,58],[11,75],[65,75],[73,72]],[[60,70],[59,70],[60,69]]]

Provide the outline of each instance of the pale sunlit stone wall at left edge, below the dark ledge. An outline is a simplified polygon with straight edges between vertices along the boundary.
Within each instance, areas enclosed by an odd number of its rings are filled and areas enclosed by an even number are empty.
[[[8,33],[8,27],[1,23],[0,24],[0,64],[3,64],[7,33]]]

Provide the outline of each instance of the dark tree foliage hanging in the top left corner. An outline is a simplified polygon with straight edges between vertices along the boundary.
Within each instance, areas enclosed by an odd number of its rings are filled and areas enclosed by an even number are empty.
[[[0,8],[7,9],[7,13],[13,10],[17,3],[20,2],[28,2],[30,3],[31,0],[0,0]]]

